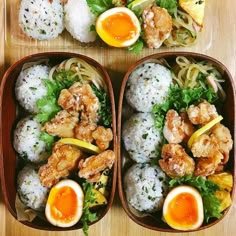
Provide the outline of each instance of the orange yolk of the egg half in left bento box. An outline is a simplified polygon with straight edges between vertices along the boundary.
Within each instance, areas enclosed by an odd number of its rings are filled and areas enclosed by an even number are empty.
[[[77,196],[75,191],[68,186],[53,188],[51,190],[48,203],[50,213],[55,220],[69,222],[77,211]]]

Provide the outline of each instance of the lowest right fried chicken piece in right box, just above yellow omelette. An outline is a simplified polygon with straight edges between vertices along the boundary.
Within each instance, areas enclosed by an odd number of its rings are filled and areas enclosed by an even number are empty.
[[[223,158],[223,155],[217,150],[208,157],[198,158],[194,175],[208,176],[214,174]]]

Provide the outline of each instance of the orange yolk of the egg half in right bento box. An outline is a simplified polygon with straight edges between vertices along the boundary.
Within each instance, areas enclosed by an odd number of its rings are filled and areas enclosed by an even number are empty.
[[[170,201],[167,214],[172,222],[193,225],[198,220],[197,200],[190,193],[178,194]]]

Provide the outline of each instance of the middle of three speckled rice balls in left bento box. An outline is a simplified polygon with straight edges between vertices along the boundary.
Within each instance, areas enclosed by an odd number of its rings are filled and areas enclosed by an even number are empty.
[[[39,139],[41,128],[34,117],[26,117],[17,123],[13,146],[21,158],[34,163],[47,160],[50,152],[47,144]]]

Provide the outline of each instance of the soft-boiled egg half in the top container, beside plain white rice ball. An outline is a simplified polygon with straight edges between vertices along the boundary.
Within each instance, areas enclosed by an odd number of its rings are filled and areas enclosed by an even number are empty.
[[[115,7],[103,12],[96,21],[100,38],[113,47],[128,47],[140,36],[137,16],[126,7]]]

